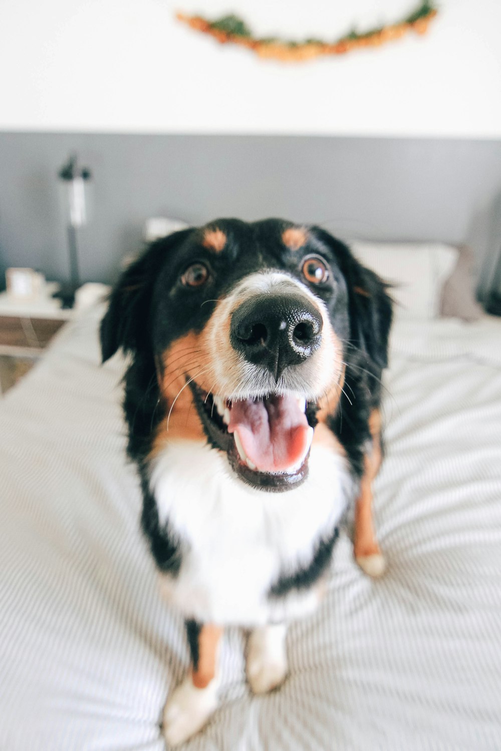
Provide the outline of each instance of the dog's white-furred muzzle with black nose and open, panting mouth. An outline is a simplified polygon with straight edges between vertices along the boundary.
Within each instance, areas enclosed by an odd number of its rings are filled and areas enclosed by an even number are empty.
[[[255,488],[289,490],[307,476],[318,400],[335,375],[336,350],[321,301],[276,276],[237,288],[228,301],[229,331],[220,321],[219,345],[231,349],[226,362],[237,388],[230,382],[213,393],[189,383],[207,439],[226,452],[238,477]],[[318,360],[324,349],[332,368]],[[218,354],[216,348],[216,360]]]

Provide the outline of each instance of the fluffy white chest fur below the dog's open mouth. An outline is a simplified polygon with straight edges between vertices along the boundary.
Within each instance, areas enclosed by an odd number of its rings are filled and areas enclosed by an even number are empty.
[[[216,449],[169,444],[152,462],[150,487],[161,523],[168,521],[186,552],[179,575],[162,577],[164,593],[202,622],[253,626],[311,611],[315,590],[280,602],[267,593],[280,574],[311,562],[340,520],[350,484],[346,460],[321,445],[312,446],[300,487],[267,493],[237,480]]]

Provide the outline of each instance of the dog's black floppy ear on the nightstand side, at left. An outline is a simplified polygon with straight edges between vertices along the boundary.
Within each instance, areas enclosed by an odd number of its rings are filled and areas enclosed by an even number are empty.
[[[190,231],[174,232],[152,243],[120,276],[101,321],[103,363],[119,348],[124,352],[134,352],[144,343],[153,285],[165,255],[182,243]]]

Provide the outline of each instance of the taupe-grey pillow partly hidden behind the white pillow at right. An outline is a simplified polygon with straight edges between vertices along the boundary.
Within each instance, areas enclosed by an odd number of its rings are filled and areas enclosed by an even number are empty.
[[[460,246],[459,258],[451,276],[442,287],[440,315],[478,321],[484,311],[475,298],[475,254],[468,246]]]

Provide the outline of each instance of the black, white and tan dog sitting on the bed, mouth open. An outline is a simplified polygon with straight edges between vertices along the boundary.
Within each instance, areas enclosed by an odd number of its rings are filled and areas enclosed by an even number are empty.
[[[285,629],[318,606],[340,520],[384,569],[371,483],[382,461],[388,285],[317,226],[218,219],[152,243],[101,321],[130,358],[128,456],[161,590],[192,656],[164,710],[171,745],[217,706],[225,626],[250,630],[255,693],[287,673]]]

